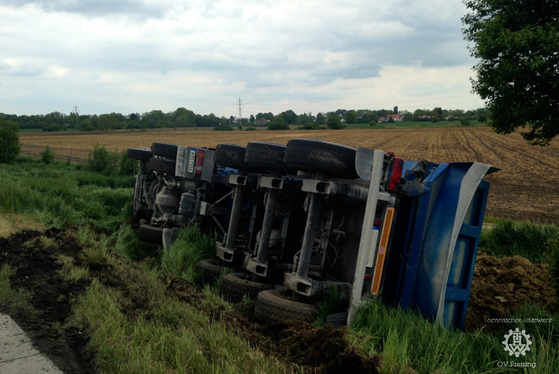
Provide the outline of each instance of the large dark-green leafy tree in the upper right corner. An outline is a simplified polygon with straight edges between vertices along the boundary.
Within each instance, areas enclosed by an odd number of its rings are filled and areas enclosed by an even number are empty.
[[[463,0],[464,37],[479,59],[474,92],[500,134],[548,145],[559,134],[559,1]]]

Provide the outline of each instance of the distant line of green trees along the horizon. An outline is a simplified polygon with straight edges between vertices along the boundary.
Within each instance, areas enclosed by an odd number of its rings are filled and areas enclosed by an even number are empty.
[[[195,114],[186,108],[177,108],[173,112],[164,113],[161,110],[152,110],[147,113],[107,113],[101,115],[80,115],[52,112],[47,115],[9,115],[0,113],[3,120],[19,124],[20,129],[42,129],[43,131],[78,130],[78,131],[110,131],[122,129],[158,129],[164,127],[219,127],[219,126],[267,126],[270,129],[282,129],[290,125],[300,125],[307,128],[328,126],[331,128],[343,127],[343,124],[374,124],[385,119],[390,114],[400,114],[404,121],[442,121],[442,120],[480,120],[483,122],[488,115],[485,108],[476,110],[447,110],[442,108],[417,109],[414,112],[402,110],[398,107],[393,110],[346,110],[338,109],[327,113],[302,113],[296,114],[293,110],[286,110],[274,115],[256,113],[248,118],[237,119],[231,117],[217,117]],[[261,119],[266,121],[261,121]],[[339,120],[339,121],[338,121]],[[387,120],[389,121],[389,120]],[[338,123],[339,122],[339,123]]]

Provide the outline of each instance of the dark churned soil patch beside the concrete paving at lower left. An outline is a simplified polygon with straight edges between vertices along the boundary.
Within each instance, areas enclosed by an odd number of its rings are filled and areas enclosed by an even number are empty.
[[[66,327],[71,299],[89,284],[88,280],[66,282],[60,275],[59,254],[76,257],[81,247],[75,236],[57,229],[15,233],[0,238],[0,263],[9,264],[12,289],[28,292],[29,308],[4,309],[15,319],[43,354],[64,373],[97,373],[87,338]],[[0,305],[1,306],[1,305]]]

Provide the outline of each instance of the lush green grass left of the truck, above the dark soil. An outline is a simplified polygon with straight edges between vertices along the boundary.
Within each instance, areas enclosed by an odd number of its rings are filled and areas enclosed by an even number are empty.
[[[81,165],[18,157],[0,166],[0,180],[0,213],[31,214],[46,226],[104,229],[130,217],[131,175],[101,175]]]

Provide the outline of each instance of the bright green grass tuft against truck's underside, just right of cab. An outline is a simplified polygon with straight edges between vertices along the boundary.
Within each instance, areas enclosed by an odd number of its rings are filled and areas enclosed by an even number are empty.
[[[201,259],[215,257],[215,239],[204,235],[198,226],[182,229],[173,246],[161,254],[161,270],[196,283],[202,271],[196,264]]]

